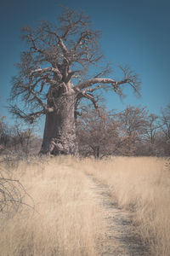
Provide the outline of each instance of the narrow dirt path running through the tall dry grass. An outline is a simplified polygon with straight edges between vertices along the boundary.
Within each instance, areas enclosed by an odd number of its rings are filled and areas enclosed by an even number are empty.
[[[105,207],[107,221],[106,238],[102,245],[102,255],[110,256],[150,256],[135,232],[129,212],[118,207],[108,192],[108,187],[88,175],[92,181],[92,189],[99,195],[102,207]]]

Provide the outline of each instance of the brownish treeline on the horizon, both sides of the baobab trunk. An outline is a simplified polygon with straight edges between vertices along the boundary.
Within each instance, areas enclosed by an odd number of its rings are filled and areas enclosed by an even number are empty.
[[[35,126],[9,127],[0,119],[0,154],[38,154],[42,139]],[[170,155],[170,104],[158,116],[147,108],[127,106],[122,112],[83,108],[77,117],[79,154],[102,158],[109,155]]]

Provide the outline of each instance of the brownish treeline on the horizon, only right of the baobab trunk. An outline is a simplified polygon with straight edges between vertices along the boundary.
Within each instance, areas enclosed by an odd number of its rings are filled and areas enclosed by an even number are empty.
[[[83,109],[84,110],[84,109]],[[122,112],[87,108],[77,121],[83,156],[170,155],[170,104],[158,116],[147,108],[128,106]]]

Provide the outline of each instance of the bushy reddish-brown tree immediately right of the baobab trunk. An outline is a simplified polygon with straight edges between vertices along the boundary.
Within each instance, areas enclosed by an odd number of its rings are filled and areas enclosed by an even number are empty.
[[[114,114],[108,113],[106,108],[99,109],[99,113],[88,106],[81,119],[77,120],[78,145],[82,156],[102,158],[118,151],[119,124],[114,120]]]

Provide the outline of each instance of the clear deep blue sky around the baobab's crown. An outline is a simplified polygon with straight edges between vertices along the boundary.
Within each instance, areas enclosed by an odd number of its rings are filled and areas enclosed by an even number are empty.
[[[55,20],[63,4],[82,9],[91,17],[94,28],[102,31],[101,47],[113,65],[128,64],[139,73],[142,98],[127,90],[127,98],[110,92],[108,108],[122,110],[127,104],[147,106],[160,113],[170,102],[170,1],[169,0],[6,0],[0,6],[0,113],[10,116],[7,105],[10,79],[24,49],[20,28],[36,26],[37,20]],[[116,73],[114,74],[116,76]]]

